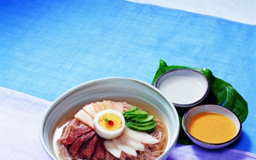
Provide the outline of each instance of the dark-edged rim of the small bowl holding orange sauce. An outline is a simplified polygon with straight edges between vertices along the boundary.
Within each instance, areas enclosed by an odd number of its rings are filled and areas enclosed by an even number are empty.
[[[225,142],[222,142],[222,143],[207,143],[207,142],[204,142],[204,141],[200,141],[198,140],[197,138],[195,138],[194,136],[192,136],[192,134],[190,134],[186,128],[186,125],[185,125],[185,117],[186,115],[188,114],[189,111],[191,111],[192,109],[194,108],[197,108],[197,107],[200,107],[200,106],[206,106],[206,105],[211,105],[211,106],[218,106],[218,107],[222,107],[223,109],[226,109],[228,111],[230,111],[233,115],[235,115],[235,117],[237,117],[237,120],[239,122],[239,130],[238,130],[238,133],[235,135],[235,137],[233,137],[232,139],[230,139],[229,141],[225,141]],[[232,110],[224,107],[224,106],[221,106],[221,105],[218,105],[218,104],[201,104],[201,105],[197,105],[197,106],[194,106],[190,109],[188,109],[185,114],[183,115],[182,117],[182,127],[184,129],[184,131],[186,132],[186,134],[188,134],[193,140],[201,143],[201,144],[204,144],[204,145],[207,145],[207,146],[222,146],[222,145],[225,145],[225,144],[229,144],[230,142],[232,141],[235,141],[237,140],[237,138],[240,136],[240,134],[242,133],[242,122],[240,121],[240,119],[238,118],[237,114],[235,114]]]

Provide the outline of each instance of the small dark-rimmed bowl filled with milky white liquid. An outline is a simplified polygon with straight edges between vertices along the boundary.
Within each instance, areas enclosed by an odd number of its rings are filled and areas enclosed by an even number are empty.
[[[205,99],[210,89],[207,78],[192,69],[167,71],[155,81],[154,86],[178,108],[197,105]]]

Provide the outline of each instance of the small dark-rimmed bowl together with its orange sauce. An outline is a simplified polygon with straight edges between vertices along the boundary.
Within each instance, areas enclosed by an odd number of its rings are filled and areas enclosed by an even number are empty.
[[[188,109],[183,115],[182,127],[190,140],[208,149],[230,145],[242,131],[242,123],[237,115],[215,104]]]

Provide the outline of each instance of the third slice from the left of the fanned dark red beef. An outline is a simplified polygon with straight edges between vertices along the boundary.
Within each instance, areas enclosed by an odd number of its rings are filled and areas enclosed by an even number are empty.
[[[96,134],[90,141],[83,143],[83,145],[81,146],[81,148],[77,153],[77,156],[80,159],[85,158],[86,160],[90,160],[95,150],[98,139],[99,139],[99,136]]]

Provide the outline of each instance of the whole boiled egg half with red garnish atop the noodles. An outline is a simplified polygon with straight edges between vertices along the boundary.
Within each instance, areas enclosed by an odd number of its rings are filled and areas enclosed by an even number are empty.
[[[98,112],[93,122],[95,132],[106,140],[111,140],[121,135],[125,126],[123,115],[113,109]]]

